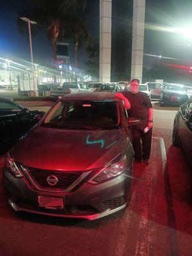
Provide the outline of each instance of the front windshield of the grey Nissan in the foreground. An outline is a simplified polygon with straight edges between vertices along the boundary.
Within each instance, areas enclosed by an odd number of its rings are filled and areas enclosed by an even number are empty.
[[[43,126],[57,129],[117,129],[115,100],[65,100],[46,116]]]

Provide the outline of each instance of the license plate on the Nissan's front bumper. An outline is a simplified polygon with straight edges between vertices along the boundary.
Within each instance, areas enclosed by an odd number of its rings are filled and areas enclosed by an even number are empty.
[[[38,196],[38,204],[47,209],[63,209],[63,198],[52,196]]]

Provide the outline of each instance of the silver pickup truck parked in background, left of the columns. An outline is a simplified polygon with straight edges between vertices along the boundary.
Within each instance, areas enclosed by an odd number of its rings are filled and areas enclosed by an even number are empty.
[[[58,86],[57,88],[51,89],[51,97],[57,100],[59,97],[70,93],[79,93],[79,92],[89,92],[88,86],[83,83],[76,82],[65,82],[63,86]]]

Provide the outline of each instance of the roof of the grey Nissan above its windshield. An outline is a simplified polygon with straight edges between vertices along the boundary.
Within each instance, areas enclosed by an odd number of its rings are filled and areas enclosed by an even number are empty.
[[[61,100],[118,100],[114,92],[86,92],[71,93],[65,95]]]

